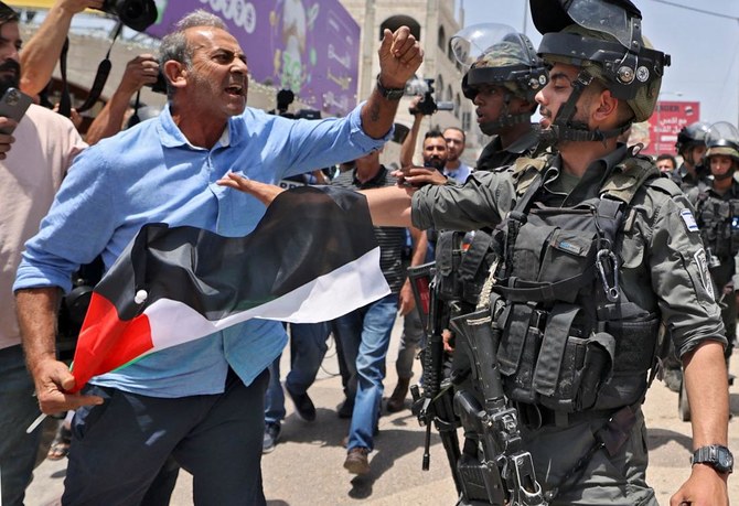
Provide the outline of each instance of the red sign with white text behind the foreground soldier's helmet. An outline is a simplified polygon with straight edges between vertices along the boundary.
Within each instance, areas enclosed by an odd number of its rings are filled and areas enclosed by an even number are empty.
[[[632,127],[631,141],[644,144],[644,154],[670,153],[676,155],[675,142],[677,132],[687,125],[699,121],[699,101],[658,101],[649,121],[644,121],[641,130],[646,127],[647,131],[634,131],[638,126]]]

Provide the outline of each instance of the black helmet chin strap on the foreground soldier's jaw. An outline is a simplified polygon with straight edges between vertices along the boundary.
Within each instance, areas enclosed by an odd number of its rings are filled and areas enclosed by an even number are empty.
[[[613,128],[610,130],[600,130],[596,128],[590,130],[588,125],[582,121],[576,121],[572,118],[577,112],[577,101],[585,88],[592,83],[593,77],[585,69],[580,71],[572,83],[572,93],[564,106],[557,111],[557,116],[551,121],[549,128],[542,130],[542,141],[549,146],[556,146],[561,141],[604,141],[613,137],[619,137],[626,131],[631,125]]]

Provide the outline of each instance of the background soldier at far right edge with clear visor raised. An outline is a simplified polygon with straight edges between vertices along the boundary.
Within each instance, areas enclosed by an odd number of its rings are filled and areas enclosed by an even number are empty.
[[[737,335],[737,274],[735,257],[739,254],[739,131],[726,121],[711,125],[705,138],[706,164],[711,177],[699,182],[687,196],[696,212],[696,223],[706,246],[708,269],[716,299],[721,305],[728,346],[728,365]]]

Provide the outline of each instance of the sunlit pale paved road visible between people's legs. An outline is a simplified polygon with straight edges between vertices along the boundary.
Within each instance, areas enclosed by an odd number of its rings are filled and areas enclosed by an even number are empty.
[[[395,386],[394,362],[399,338],[399,325],[393,333],[388,378],[386,386]],[[282,370],[289,370],[286,356]],[[420,364],[416,365],[416,370]],[[731,370],[739,376],[739,353],[735,353]],[[456,494],[449,477],[446,456],[436,433],[431,439],[431,465],[421,471],[425,430],[406,410],[383,416],[376,451],[371,454],[372,472],[358,478],[343,467],[346,455],[341,440],[349,423],[336,417],[342,401],[341,381],[333,349],[323,362],[323,370],[310,389],[318,409],[318,419],[308,423],[294,415],[288,400],[288,417],[276,450],[263,459],[265,493],[269,506],[354,505],[413,506],[454,504]],[[649,481],[657,493],[660,504],[668,505],[670,496],[689,474],[690,427],[677,417],[677,395],[655,381],[649,391],[645,416],[647,420],[650,469]],[[731,388],[729,446],[739,454],[739,381]],[[58,504],[65,474],[65,462],[43,462],[35,471],[35,480],[26,494],[28,506]],[[171,504],[192,505],[192,480],[181,473]],[[739,478],[729,481],[729,496],[739,504]],[[104,505],[101,505],[104,506]]]

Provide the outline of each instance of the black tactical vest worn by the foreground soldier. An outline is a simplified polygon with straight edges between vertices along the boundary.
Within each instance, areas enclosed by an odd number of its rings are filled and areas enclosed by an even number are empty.
[[[620,235],[631,200],[658,171],[631,157],[599,196],[546,207],[535,202],[542,164],[516,165],[520,196],[493,238],[502,261],[491,311],[506,396],[568,413],[638,402],[654,365],[660,319],[619,287]]]

